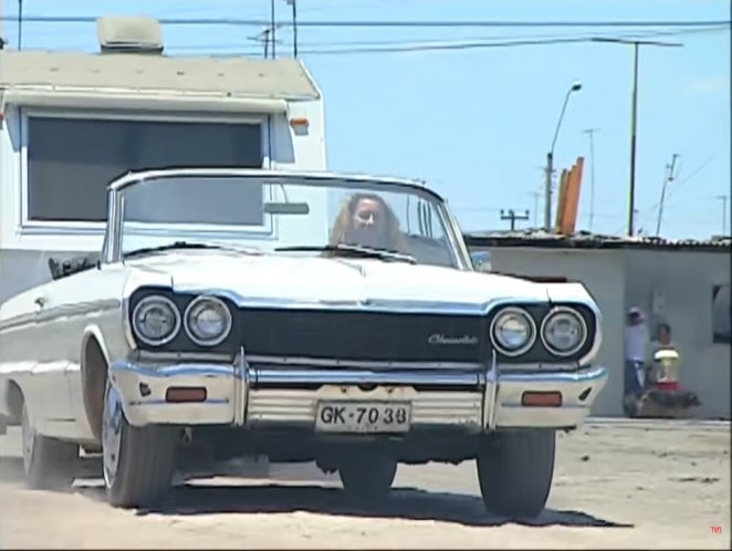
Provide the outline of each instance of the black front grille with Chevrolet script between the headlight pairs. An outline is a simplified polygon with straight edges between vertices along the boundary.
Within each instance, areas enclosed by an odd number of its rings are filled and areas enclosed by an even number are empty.
[[[373,362],[484,362],[484,318],[305,310],[242,310],[248,355]],[[477,344],[430,344],[430,335],[474,336]]]

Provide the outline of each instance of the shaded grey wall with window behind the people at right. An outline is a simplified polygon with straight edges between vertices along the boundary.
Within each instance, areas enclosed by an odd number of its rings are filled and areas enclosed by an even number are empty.
[[[680,383],[701,399],[698,414],[729,419],[732,351],[712,340],[712,288],[730,284],[729,253],[625,251],[625,305],[642,308],[651,331],[660,321],[671,325],[681,354]]]

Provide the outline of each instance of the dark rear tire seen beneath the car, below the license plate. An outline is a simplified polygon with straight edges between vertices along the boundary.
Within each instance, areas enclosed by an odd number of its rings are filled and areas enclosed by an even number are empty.
[[[374,457],[368,453],[348,456],[338,466],[338,476],[346,495],[356,501],[385,499],[397,474],[397,461],[390,457]]]

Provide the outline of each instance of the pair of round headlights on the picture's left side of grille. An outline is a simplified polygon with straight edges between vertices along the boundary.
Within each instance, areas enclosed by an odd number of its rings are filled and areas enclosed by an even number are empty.
[[[181,313],[167,297],[148,295],[132,313],[135,336],[149,346],[169,343],[180,330],[200,346],[216,346],[231,332],[231,311],[216,297],[197,297]]]

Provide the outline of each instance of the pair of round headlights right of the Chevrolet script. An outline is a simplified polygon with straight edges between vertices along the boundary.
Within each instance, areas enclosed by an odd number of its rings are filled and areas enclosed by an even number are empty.
[[[553,308],[538,329],[526,310],[505,306],[493,319],[490,331],[493,346],[509,357],[525,354],[537,339],[554,356],[568,357],[582,350],[589,339],[585,319],[569,306]]]

